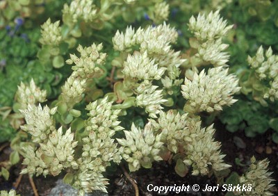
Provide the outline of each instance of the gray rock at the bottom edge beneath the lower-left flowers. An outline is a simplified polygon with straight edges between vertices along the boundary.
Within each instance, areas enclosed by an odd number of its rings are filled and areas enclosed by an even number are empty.
[[[78,196],[78,190],[72,188],[72,186],[63,183],[62,179],[56,181],[56,186],[51,189],[49,196]],[[108,196],[107,193],[95,190],[93,193],[86,193],[86,196]]]

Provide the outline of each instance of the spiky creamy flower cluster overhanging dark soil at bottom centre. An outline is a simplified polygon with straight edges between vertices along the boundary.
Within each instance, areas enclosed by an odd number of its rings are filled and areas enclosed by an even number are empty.
[[[161,161],[158,156],[163,142],[161,134],[154,136],[151,122],[145,125],[144,130],[136,128],[135,124],[131,125],[131,131],[124,131],[126,139],[117,139],[124,147],[122,157],[129,163],[131,172],[143,168],[151,168],[152,162]]]

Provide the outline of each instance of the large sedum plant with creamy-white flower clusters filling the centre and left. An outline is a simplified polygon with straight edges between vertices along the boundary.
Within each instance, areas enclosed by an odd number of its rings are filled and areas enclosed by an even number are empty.
[[[89,30],[104,28],[118,15],[126,19],[140,12],[134,5],[152,3],[149,17],[157,25],[117,31],[110,51],[93,42],[88,47],[79,44],[73,54],[79,39],[93,35]],[[121,12],[125,9],[127,14]],[[20,129],[31,136],[17,152],[24,156],[22,174],[47,177],[65,172],[64,181],[85,195],[107,191],[105,172],[112,163],[127,163],[133,172],[151,168],[154,161],[174,159],[182,177],[189,169],[193,175],[206,175],[230,167],[224,163],[220,142],[213,139],[213,124],[203,126],[200,113],[222,111],[236,102],[232,96],[240,87],[236,76],[228,73],[228,45],[222,43],[232,26],[219,11],[192,17],[192,54],[184,58],[172,47],[179,33],[163,22],[167,15],[162,1],[74,0],[63,8],[63,25],[51,19],[42,24],[40,62],[46,70],[72,65],[72,73],[56,100],[47,101],[46,92],[33,80],[17,90],[19,113],[25,119]],[[68,60],[65,54],[70,54]],[[197,70],[202,65],[213,68],[206,74]],[[112,88],[101,90],[108,66]],[[99,95],[90,96],[92,91]],[[130,122],[131,111],[142,116],[140,126]]]

